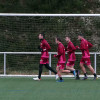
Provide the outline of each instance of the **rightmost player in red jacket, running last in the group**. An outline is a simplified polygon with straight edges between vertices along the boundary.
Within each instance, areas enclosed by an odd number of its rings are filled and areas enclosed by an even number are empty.
[[[83,80],[87,79],[87,73],[86,73],[86,69],[84,67],[84,64],[87,65],[89,70],[92,72],[92,74],[94,75],[94,80],[95,80],[95,79],[97,79],[97,75],[96,75],[93,67],[91,66],[90,54],[89,54],[89,49],[93,45],[90,42],[88,42],[86,39],[84,39],[84,37],[81,36],[81,35],[78,36],[78,40],[80,40],[81,43],[80,43],[80,47],[76,46],[76,48],[80,49],[82,51],[82,58],[81,58],[81,61],[80,61],[80,67],[81,67],[81,69],[84,73]]]

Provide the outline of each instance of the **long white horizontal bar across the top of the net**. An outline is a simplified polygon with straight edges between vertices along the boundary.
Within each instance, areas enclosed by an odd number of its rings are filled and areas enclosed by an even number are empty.
[[[100,14],[26,14],[26,13],[0,13],[0,16],[100,16]]]

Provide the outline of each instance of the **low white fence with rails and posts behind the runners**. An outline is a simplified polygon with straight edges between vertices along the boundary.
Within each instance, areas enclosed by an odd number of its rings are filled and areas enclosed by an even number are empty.
[[[0,54],[4,55],[4,73],[0,76],[14,76],[14,75],[7,75],[6,74],[6,60],[7,60],[6,56],[7,55],[12,55],[12,54],[13,55],[14,54],[35,55],[35,54],[41,54],[41,53],[40,52],[0,52]],[[52,66],[52,61],[51,61],[51,55],[52,54],[56,54],[56,52],[49,52],[49,65],[50,66]],[[75,54],[76,55],[81,54],[81,52],[76,52]],[[95,72],[96,72],[96,70],[97,70],[97,54],[100,54],[100,52],[90,52],[90,54],[94,55],[94,69],[95,69]],[[15,76],[37,76],[37,75],[15,75]],[[46,75],[44,75],[44,76],[46,76]],[[47,75],[47,76],[53,76],[53,75],[51,75],[51,71],[49,71],[49,75]],[[70,77],[72,77],[72,75]]]

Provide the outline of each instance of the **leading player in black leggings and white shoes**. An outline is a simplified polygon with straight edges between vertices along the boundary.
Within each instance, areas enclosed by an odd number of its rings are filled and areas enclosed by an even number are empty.
[[[49,54],[48,51],[51,49],[50,45],[48,42],[44,39],[44,34],[41,33],[39,34],[39,39],[40,39],[40,46],[38,49],[41,51],[41,59],[40,59],[40,64],[39,64],[39,75],[37,78],[33,78],[34,80],[41,80],[41,74],[42,74],[42,69],[43,65],[50,71],[52,71],[56,75],[56,79],[58,78],[57,72],[49,66]]]

